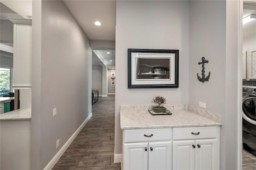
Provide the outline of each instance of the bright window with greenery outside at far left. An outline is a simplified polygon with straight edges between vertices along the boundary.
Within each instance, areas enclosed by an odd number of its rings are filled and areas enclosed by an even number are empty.
[[[10,68],[0,68],[0,97],[10,92]]]

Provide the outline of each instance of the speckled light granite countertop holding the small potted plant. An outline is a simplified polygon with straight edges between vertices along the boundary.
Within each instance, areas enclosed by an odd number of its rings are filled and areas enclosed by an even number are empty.
[[[189,110],[171,110],[172,115],[148,111],[120,111],[121,129],[221,126],[221,123]]]

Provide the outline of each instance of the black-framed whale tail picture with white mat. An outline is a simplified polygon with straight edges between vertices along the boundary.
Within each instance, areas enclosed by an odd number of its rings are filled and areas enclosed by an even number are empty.
[[[178,88],[178,49],[128,49],[128,89]]]

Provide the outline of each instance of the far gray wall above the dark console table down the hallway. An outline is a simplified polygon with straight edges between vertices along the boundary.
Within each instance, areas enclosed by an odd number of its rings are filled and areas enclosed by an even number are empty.
[[[102,95],[102,66],[92,65],[92,89],[99,90]]]

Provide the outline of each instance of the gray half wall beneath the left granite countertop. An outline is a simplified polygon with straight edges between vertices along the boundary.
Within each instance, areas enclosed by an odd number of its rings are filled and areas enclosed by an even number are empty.
[[[1,121],[1,170],[30,170],[30,120]]]

